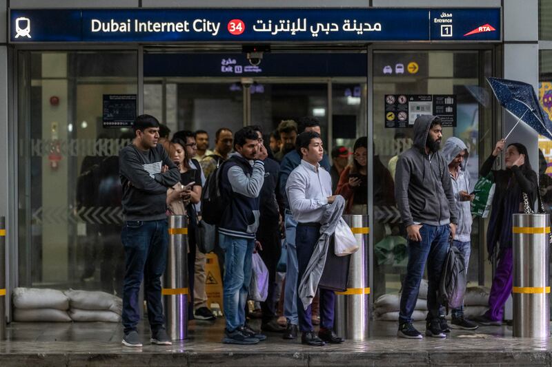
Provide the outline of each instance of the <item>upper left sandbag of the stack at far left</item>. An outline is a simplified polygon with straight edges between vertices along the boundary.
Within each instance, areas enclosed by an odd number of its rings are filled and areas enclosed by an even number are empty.
[[[69,309],[69,298],[56,289],[16,288],[13,290],[12,298],[14,307],[19,309],[53,308],[61,311]]]

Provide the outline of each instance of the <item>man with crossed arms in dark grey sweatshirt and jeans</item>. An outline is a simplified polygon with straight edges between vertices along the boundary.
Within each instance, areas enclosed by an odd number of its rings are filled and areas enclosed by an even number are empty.
[[[141,115],[134,124],[135,139],[119,152],[119,176],[123,187],[124,224],[121,241],[125,247],[126,270],[123,285],[125,346],[142,346],[137,333],[140,319],[139,291],[144,278],[152,344],[170,345],[161,304],[161,275],[167,262],[167,189],[180,179],[178,167],[157,144],[159,121]]]

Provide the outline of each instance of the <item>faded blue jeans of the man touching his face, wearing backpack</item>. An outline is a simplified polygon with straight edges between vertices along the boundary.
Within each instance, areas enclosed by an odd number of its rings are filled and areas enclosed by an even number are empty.
[[[255,240],[219,233],[219,246],[224,251],[222,286],[226,330],[235,331],[246,322],[246,302],[251,282]]]

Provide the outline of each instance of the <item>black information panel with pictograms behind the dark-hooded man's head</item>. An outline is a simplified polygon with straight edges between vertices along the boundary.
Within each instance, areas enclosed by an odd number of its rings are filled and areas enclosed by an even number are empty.
[[[413,127],[422,115],[439,116],[442,127],[456,127],[455,94],[386,94],[385,127]]]

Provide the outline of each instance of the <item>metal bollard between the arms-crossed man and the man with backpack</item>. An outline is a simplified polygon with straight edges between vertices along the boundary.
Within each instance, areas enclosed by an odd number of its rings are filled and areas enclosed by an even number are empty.
[[[166,328],[172,340],[188,338],[188,221],[186,216],[168,217],[167,267],[164,275]]]

